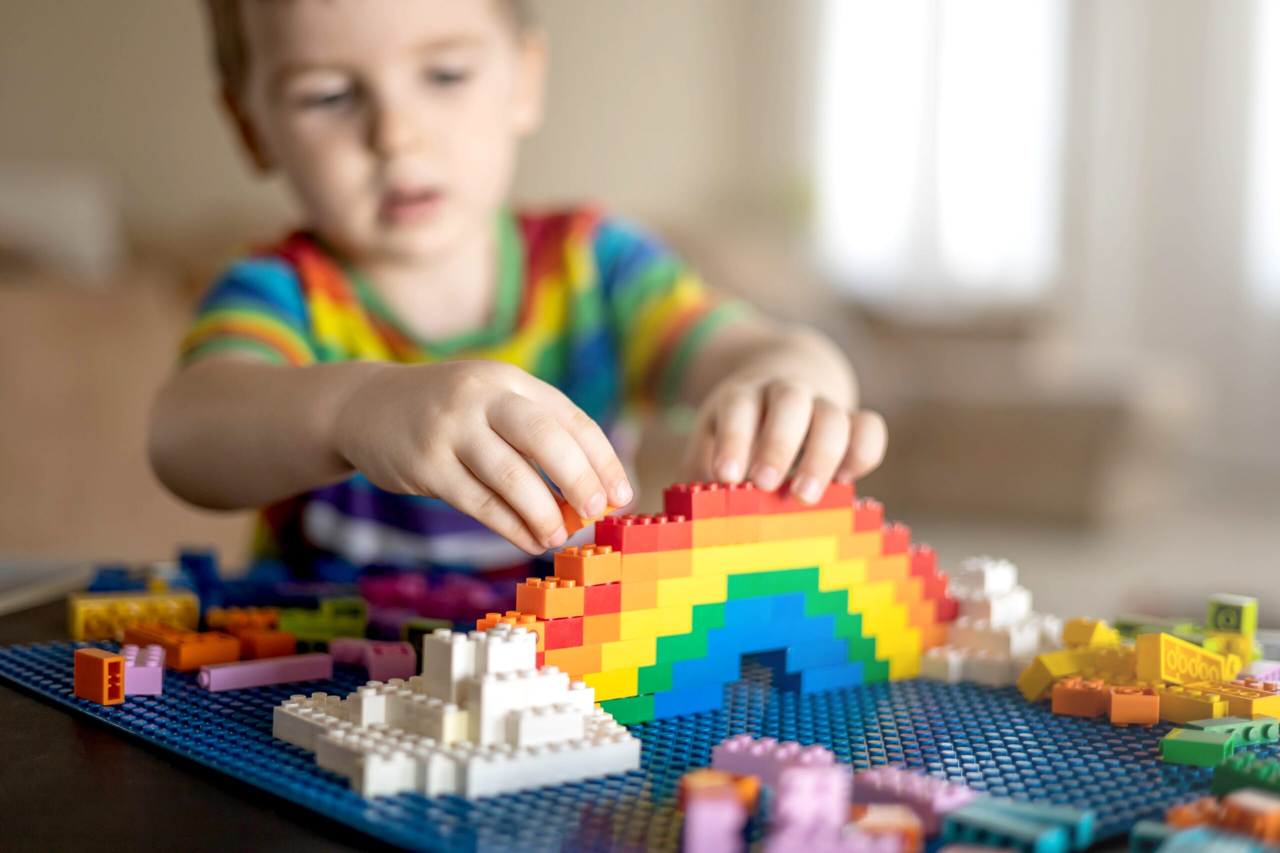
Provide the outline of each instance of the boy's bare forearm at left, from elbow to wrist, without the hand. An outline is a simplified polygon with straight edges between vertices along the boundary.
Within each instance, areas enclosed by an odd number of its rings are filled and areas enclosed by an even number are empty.
[[[151,412],[150,454],[175,495],[242,509],[349,476],[333,425],[351,393],[385,364],[276,367],[218,358],[174,376]]]

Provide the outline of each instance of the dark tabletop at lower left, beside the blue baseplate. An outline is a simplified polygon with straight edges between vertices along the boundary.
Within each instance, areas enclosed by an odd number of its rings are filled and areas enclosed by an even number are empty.
[[[0,616],[0,646],[65,639],[61,601]],[[0,850],[388,849],[0,682]]]

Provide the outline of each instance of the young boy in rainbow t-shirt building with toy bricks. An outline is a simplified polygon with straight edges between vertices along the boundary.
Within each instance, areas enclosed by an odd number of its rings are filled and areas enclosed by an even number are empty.
[[[567,538],[548,480],[582,518],[632,501],[607,435],[641,404],[699,404],[690,478],[794,468],[813,501],[879,463],[828,340],[614,219],[506,206],[541,116],[524,3],[207,4],[228,111],[306,230],[212,286],[151,458],[193,504],[265,506],[260,554],[520,565]]]

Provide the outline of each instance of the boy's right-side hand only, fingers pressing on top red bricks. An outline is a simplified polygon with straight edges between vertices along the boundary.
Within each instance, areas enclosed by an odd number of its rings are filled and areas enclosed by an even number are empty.
[[[806,375],[806,373],[813,373]],[[884,418],[859,409],[856,390],[820,367],[756,363],[721,380],[699,408],[686,468],[698,478],[750,480],[772,491],[795,466],[791,491],[814,503],[884,458]]]

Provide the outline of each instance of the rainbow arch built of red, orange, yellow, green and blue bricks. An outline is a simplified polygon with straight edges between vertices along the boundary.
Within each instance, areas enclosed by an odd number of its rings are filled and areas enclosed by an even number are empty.
[[[783,486],[677,485],[660,515],[608,517],[556,555],[495,624],[538,634],[538,662],[595,689],[620,723],[721,707],[744,655],[812,692],[918,674],[956,615],[934,552],[833,483],[815,505]]]

